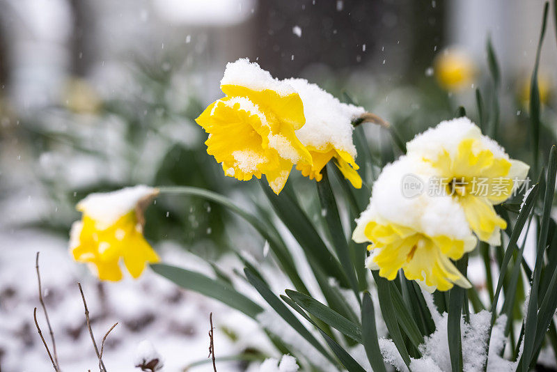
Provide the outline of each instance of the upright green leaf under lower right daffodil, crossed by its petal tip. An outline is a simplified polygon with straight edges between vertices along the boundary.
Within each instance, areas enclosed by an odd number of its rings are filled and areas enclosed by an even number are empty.
[[[466,276],[466,266],[468,266],[468,254],[464,254],[456,262],[457,269]],[[460,286],[453,286],[449,292],[447,335],[448,352],[450,356],[450,366],[453,372],[462,372],[462,338],[460,333],[460,319],[462,314],[462,304],[466,290]]]

